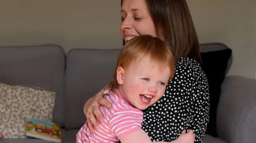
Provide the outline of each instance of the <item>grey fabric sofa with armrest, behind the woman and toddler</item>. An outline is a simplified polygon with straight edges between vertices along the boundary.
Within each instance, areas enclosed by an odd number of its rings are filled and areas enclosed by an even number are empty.
[[[226,48],[202,44],[201,51]],[[62,142],[75,143],[84,124],[83,105],[112,78],[120,49],[74,49],[57,45],[0,47],[0,82],[27,84],[56,92],[53,121],[62,125]],[[230,59],[229,66],[232,63]],[[228,68],[229,69],[229,68]],[[228,71],[227,69],[227,71]],[[217,111],[218,137],[204,143],[254,143],[256,80],[227,76]],[[50,143],[40,139],[0,139],[0,143]]]

